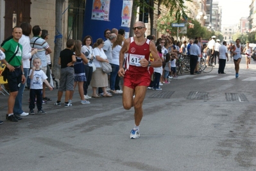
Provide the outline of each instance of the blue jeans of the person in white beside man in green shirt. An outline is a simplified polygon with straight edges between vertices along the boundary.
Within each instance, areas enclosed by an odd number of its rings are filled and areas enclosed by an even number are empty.
[[[28,72],[30,69],[23,69],[24,71],[24,76],[27,78],[28,77]],[[16,115],[21,115],[21,113],[23,113],[24,111],[22,110],[22,97],[23,97],[23,92],[25,89],[25,85],[26,83],[22,84],[19,87],[19,91],[17,94],[17,97],[15,98],[15,104],[13,106],[13,113]]]

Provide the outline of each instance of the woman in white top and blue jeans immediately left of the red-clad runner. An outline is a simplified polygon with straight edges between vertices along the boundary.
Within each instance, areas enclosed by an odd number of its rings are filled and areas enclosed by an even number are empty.
[[[110,92],[114,94],[118,94],[120,91],[115,90],[115,81],[117,77],[117,73],[119,70],[119,53],[122,48],[122,44],[124,41],[124,37],[122,35],[117,35],[117,38],[115,42],[113,43],[112,47],[112,61],[111,61],[111,66],[112,66],[112,72],[110,72]],[[119,79],[117,79],[119,81]],[[118,83],[119,85],[119,83]]]

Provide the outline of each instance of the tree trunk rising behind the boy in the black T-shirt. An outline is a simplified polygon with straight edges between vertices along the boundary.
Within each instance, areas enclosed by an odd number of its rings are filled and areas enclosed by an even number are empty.
[[[55,78],[60,78],[60,51],[62,51],[62,8],[65,0],[56,0],[55,6],[55,52],[53,55],[53,74]]]

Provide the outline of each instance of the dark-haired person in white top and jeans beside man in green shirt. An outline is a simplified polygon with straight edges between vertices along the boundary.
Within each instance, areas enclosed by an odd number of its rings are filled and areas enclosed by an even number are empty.
[[[31,25],[28,22],[22,22],[22,37],[19,39],[19,44],[22,45],[22,63],[24,76],[28,77],[28,71],[30,70],[30,58],[33,54],[37,53],[37,49],[31,49],[30,47],[30,34],[31,34]],[[27,116],[28,113],[22,110],[22,97],[25,88],[25,84],[21,83],[17,97],[15,98],[15,104],[13,107],[13,113],[15,115],[20,115],[22,117]]]

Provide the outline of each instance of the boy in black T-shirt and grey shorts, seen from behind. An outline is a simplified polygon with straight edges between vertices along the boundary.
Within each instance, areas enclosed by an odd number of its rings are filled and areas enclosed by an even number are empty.
[[[72,101],[69,100],[71,91],[74,91],[74,62],[76,56],[72,51],[74,47],[74,40],[67,40],[67,48],[60,52],[58,64],[60,65],[60,87],[58,88],[58,99],[55,102],[56,106],[61,106],[63,92],[65,92],[65,107],[72,106]]]

